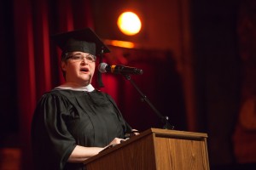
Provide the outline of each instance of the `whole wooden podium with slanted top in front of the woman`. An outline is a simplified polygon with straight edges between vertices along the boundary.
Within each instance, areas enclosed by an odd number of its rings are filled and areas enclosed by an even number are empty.
[[[210,169],[207,134],[150,128],[84,161],[87,170]]]

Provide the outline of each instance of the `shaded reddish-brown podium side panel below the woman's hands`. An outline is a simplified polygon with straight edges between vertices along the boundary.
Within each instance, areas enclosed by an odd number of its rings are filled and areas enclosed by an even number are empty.
[[[85,167],[87,170],[155,170],[153,136],[137,139],[119,150],[86,163]]]

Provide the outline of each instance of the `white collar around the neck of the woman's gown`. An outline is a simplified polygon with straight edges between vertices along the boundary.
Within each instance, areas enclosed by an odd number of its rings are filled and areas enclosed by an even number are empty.
[[[61,86],[56,87],[55,89],[68,89],[68,90],[75,90],[75,91],[86,91],[86,92],[92,92],[95,88],[91,84],[87,86],[79,86],[76,83],[73,82],[66,82],[64,84],[61,84]]]

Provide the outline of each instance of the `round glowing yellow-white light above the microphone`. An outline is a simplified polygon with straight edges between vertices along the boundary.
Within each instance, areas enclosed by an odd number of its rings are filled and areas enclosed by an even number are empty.
[[[117,25],[119,26],[119,30],[128,36],[137,34],[142,28],[141,20],[137,14],[132,12],[120,14]]]

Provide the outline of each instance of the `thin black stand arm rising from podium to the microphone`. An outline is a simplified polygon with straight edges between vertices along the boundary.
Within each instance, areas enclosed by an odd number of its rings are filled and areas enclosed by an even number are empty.
[[[162,116],[162,115],[160,114],[160,112],[155,109],[154,105],[149,101],[149,99],[147,98],[147,96],[145,96],[145,95],[143,94],[143,92],[137,87],[137,85],[135,84],[135,82],[133,82],[133,80],[131,80],[131,75],[128,75],[128,74],[122,74],[122,75],[125,77],[126,80],[128,80],[129,82],[131,82],[131,84],[133,85],[133,87],[136,88],[136,89],[137,89],[137,92],[138,92],[139,94],[141,94],[141,96],[143,97],[143,101],[146,101],[147,104],[148,104],[148,105],[151,107],[151,109],[154,111],[154,113],[155,113],[157,116],[159,116],[161,122],[163,123],[163,128],[165,128],[165,129],[171,129],[171,130],[174,129],[174,126],[172,126],[172,125],[168,122],[169,117],[168,117],[168,116]]]

